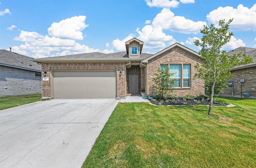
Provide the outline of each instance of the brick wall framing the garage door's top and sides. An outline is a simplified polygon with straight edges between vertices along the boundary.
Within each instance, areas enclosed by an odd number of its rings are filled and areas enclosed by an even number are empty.
[[[116,71],[116,93],[120,97],[125,96],[125,75],[124,75],[124,62],[116,63],[42,63],[42,71],[47,71],[46,77],[49,77],[49,81],[42,81],[42,97],[51,96],[51,74],[50,71],[86,71],[86,70],[115,70]],[[122,75],[120,76],[120,71]]]

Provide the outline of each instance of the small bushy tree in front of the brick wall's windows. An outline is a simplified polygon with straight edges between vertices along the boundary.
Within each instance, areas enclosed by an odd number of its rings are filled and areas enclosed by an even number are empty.
[[[173,73],[169,73],[168,68],[161,69],[160,67],[157,68],[157,73],[153,73],[156,75],[152,80],[154,81],[155,91],[157,95],[163,100],[169,91],[172,91],[170,88],[173,86],[175,79],[170,79],[170,76]]]

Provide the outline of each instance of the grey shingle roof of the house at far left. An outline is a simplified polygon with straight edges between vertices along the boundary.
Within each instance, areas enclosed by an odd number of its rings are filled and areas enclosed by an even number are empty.
[[[36,62],[30,61],[33,59],[25,55],[7,51],[5,49],[0,49],[0,64],[11,67],[20,67],[20,69],[29,69],[42,71],[42,65]]]

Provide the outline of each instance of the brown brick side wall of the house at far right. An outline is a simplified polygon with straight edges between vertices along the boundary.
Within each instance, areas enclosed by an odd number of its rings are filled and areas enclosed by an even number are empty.
[[[227,81],[234,81],[234,97],[241,97],[241,84],[240,79],[244,79],[244,85],[242,85],[242,93],[250,93],[250,97],[256,99],[256,67],[250,67],[245,69],[238,69],[231,71],[232,74],[235,73],[234,77],[227,79]],[[223,89],[224,93],[221,93],[222,96],[232,96],[232,87]]]

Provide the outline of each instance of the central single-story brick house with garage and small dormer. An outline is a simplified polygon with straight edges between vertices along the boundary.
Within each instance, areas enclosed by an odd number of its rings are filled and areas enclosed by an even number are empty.
[[[168,66],[175,73],[174,92],[179,96],[204,94],[204,81],[193,79],[198,53],[175,43],[152,55],[142,53],[143,42],[133,38],[126,52],[83,53],[33,59],[46,71],[42,80],[44,98],[116,98],[145,91],[155,95],[152,78],[157,68]]]

